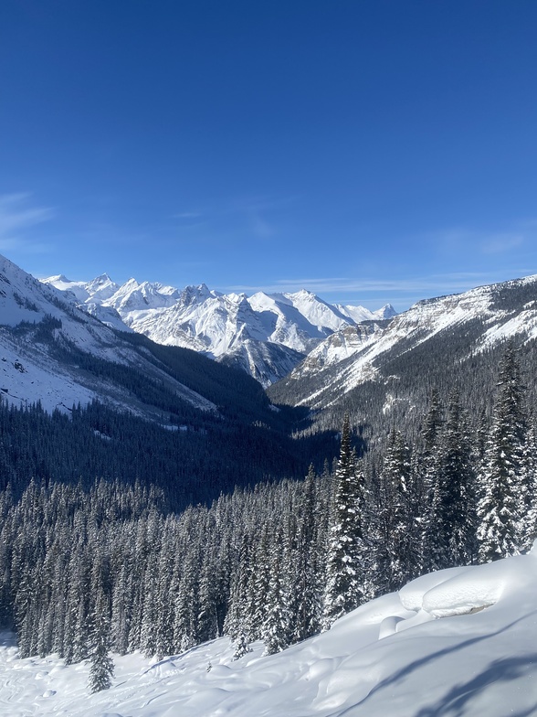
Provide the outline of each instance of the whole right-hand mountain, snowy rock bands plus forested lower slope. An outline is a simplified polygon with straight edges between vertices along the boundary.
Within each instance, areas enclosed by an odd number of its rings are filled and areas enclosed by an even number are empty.
[[[426,299],[390,320],[346,326],[271,386],[269,396],[332,412],[337,420],[350,411],[377,429],[380,414],[388,421],[399,407],[408,423],[422,393],[431,386],[460,386],[472,372],[490,370],[509,338],[521,346],[530,366],[537,338],[537,276]]]

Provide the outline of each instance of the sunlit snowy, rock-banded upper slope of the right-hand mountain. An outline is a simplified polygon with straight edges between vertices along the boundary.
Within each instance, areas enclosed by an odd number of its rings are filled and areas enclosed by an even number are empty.
[[[326,406],[365,381],[387,380],[390,361],[410,359],[424,345],[442,360],[438,339],[458,340],[462,361],[515,335],[537,338],[537,276],[427,299],[389,322],[345,327],[313,348],[271,395],[278,401],[285,392],[290,400],[294,393],[290,402]]]

